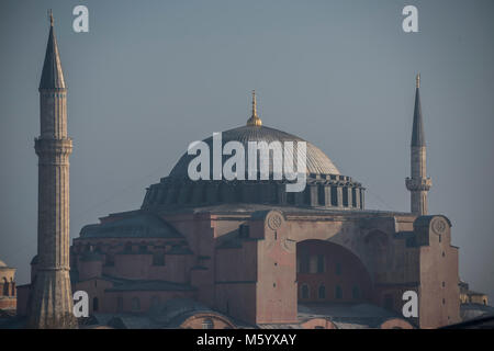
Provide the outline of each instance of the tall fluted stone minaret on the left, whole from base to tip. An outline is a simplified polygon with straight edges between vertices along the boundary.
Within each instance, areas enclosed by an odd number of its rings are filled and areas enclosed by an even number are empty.
[[[31,284],[27,327],[76,328],[69,278],[69,155],[67,89],[50,27],[40,83],[37,258]]]

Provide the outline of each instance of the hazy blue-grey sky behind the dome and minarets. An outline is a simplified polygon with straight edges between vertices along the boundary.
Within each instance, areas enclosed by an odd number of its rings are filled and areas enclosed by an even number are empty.
[[[72,8],[89,8],[89,33]],[[402,31],[418,8],[419,33]],[[53,9],[68,87],[70,236],[138,208],[192,140],[265,125],[324,150],[367,186],[367,208],[408,211],[415,73],[433,178],[460,273],[494,298],[494,1],[0,2],[0,259],[29,280],[36,251],[38,92]]]

